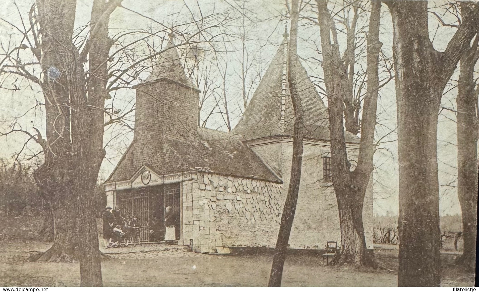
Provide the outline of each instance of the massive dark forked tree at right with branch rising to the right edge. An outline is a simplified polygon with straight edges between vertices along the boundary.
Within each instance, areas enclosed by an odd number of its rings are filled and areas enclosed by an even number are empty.
[[[479,29],[477,3],[444,52],[429,38],[426,1],[386,1],[394,28],[399,148],[399,286],[439,286],[437,113],[445,86]]]

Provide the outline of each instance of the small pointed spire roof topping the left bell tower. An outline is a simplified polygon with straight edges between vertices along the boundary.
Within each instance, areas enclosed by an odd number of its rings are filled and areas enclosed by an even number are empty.
[[[170,34],[170,40],[168,41],[165,51],[160,54],[158,62],[153,65],[151,74],[141,84],[155,82],[160,79],[169,79],[175,83],[198,90],[184,73],[184,67],[181,64],[180,55],[174,45],[173,39],[174,35]]]

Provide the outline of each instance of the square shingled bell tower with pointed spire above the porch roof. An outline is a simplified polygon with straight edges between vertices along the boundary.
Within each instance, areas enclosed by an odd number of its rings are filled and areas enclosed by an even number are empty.
[[[135,139],[168,136],[189,140],[197,136],[200,90],[186,77],[173,40],[170,34],[152,73],[134,86]]]

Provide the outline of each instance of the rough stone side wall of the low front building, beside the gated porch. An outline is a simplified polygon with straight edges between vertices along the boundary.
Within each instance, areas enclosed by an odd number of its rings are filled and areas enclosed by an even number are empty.
[[[198,173],[182,183],[184,244],[197,252],[274,247],[283,209],[282,185]],[[226,248],[225,248],[226,247]]]

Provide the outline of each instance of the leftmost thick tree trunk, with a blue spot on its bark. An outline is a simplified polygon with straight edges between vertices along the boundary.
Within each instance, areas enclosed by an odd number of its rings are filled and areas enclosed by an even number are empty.
[[[72,261],[75,248],[69,235],[76,229],[68,218],[71,215],[68,201],[70,190],[68,171],[71,160],[70,142],[70,101],[68,98],[68,68],[71,64],[71,37],[75,22],[76,3],[73,0],[37,1],[38,21],[42,37],[42,57],[40,65],[44,70],[42,90],[45,96],[46,141],[44,164],[35,170],[36,183],[51,203],[51,211],[56,218],[54,245],[38,260]],[[53,9],[56,7],[57,9]],[[62,45],[59,45],[62,44]],[[39,49],[39,48],[38,48]],[[59,72],[59,76],[55,71]],[[53,74],[49,74],[53,72]]]

